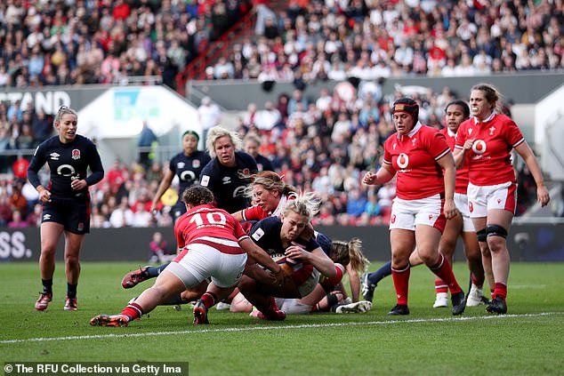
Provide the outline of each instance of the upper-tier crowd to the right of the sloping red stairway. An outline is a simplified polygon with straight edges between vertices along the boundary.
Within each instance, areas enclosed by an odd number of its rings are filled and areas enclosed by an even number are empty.
[[[483,76],[564,66],[562,2],[290,1],[208,78]]]

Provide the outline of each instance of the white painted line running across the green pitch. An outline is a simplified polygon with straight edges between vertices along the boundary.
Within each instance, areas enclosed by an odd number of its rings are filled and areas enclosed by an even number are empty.
[[[191,330],[191,331],[177,331],[177,332],[143,332],[143,333],[111,333],[111,334],[96,334],[96,335],[78,335],[69,337],[44,337],[44,338],[27,338],[20,340],[0,340],[0,344],[7,343],[22,343],[22,342],[47,342],[52,340],[96,340],[107,338],[134,338],[134,337],[148,337],[160,335],[178,335],[178,334],[199,334],[199,333],[214,333],[214,332],[249,332],[249,331],[273,331],[273,330],[286,330],[286,329],[310,329],[310,328],[326,328],[336,326],[352,326],[352,325],[389,325],[389,324],[415,324],[415,323],[444,323],[456,321],[471,321],[471,320],[487,320],[487,319],[504,319],[513,317],[540,317],[540,316],[555,316],[564,315],[564,312],[542,312],[537,314],[524,314],[524,315],[498,315],[498,316],[461,316],[461,317],[444,317],[444,318],[416,318],[413,320],[387,320],[387,321],[367,321],[363,323],[326,323],[326,324],[298,324],[298,325],[283,325],[283,326],[251,326],[244,328],[222,328],[222,329],[204,329],[204,330]],[[110,330],[120,331],[120,328],[112,328]]]

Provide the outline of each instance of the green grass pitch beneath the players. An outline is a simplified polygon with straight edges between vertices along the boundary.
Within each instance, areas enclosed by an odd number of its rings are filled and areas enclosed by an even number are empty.
[[[121,288],[121,277],[135,267],[83,263],[79,310],[67,312],[58,264],[54,300],[36,312],[37,265],[0,264],[0,361],[178,361],[189,362],[190,375],[544,375],[564,368],[564,263],[512,264],[507,316],[487,315],[480,306],[459,319],[449,309],[431,308],[433,278],[419,267],[411,273],[411,315],[399,319],[386,315],[395,304],[387,278],[367,314],[288,316],[271,323],[212,309],[212,324],[194,326],[185,306],[181,312],[157,308],[126,328],[88,325],[92,316],[118,313],[149,286]],[[455,274],[466,290],[462,263]]]

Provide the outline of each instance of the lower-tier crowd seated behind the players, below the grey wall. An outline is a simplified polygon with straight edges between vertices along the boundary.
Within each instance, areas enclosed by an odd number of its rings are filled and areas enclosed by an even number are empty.
[[[353,89],[352,92],[350,98],[342,99],[339,87],[334,92],[323,88],[317,97],[309,100],[296,89],[291,96],[281,95],[278,103],[266,102],[261,109],[251,103],[240,117],[239,135],[243,138],[252,134],[252,139],[260,140],[259,156],[270,160],[286,184],[318,193],[323,205],[313,220],[314,225],[361,226],[385,224],[389,219],[394,182],[382,187],[367,187],[360,182],[364,172],[381,164],[383,142],[394,132],[390,102],[403,93],[378,100],[381,105],[376,106],[373,98],[378,94],[373,92],[379,92],[378,85],[361,83],[358,95]],[[425,95],[412,95],[420,105],[423,124],[442,128],[441,108],[455,99],[455,94],[445,88],[439,93],[430,90]],[[44,117],[29,111],[22,111],[21,116],[30,118],[32,124],[36,124],[38,117]],[[50,120],[47,118],[42,124],[42,129],[48,132],[39,138],[31,137],[26,148],[35,148],[51,134]],[[19,139],[12,138],[11,142],[20,145]],[[248,148],[248,144],[246,141],[244,147]],[[25,180],[27,166],[24,158],[4,165],[3,172],[11,172],[14,179],[0,182],[0,226],[39,224],[41,205],[37,204],[36,190]],[[157,205],[157,218],[150,214],[152,199],[167,170],[168,161],[153,161],[149,169],[142,164],[127,166],[115,161],[104,180],[90,188],[93,228],[172,226],[171,208],[178,196],[178,181],[173,180]],[[532,180],[526,168],[520,170],[519,180],[522,184],[518,212],[522,212],[534,201],[535,184],[530,184]]]

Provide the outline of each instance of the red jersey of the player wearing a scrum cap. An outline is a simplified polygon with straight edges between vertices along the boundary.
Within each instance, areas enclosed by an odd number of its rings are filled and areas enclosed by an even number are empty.
[[[398,197],[416,200],[444,194],[444,174],[437,160],[448,153],[445,135],[419,122],[407,135],[392,134],[384,142],[383,163],[398,172]]]

